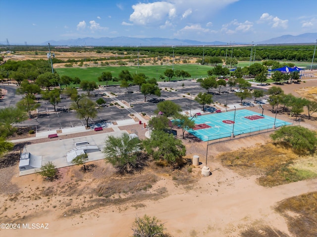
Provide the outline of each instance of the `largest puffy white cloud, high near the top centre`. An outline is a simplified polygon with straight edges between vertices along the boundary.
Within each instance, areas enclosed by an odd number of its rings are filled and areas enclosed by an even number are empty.
[[[136,25],[159,25],[167,18],[175,16],[174,5],[166,1],[153,3],[138,3],[133,5],[134,12],[130,15],[130,21]]]

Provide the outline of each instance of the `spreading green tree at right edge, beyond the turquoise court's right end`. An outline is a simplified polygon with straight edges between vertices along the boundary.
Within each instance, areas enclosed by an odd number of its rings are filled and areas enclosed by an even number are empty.
[[[299,154],[314,154],[317,146],[317,133],[302,126],[282,126],[270,135],[273,141],[288,143]]]

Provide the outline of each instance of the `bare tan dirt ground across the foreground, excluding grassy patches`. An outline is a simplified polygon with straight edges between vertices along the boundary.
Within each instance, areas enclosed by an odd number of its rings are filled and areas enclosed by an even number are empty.
[[[303,96],[303,91],[316,85],[317,80],[306,80],[281,87],[285,93]],[[269,115],[270,109],[265,106],[264,113]],[[252,110],[259,112],[255,107]],[[278,116],[289,119],[287,114]],[[317,115],[313,117],[308,120],[303,116],[301,125],[317,130]],[[120,129],[136,129],[141,138],[145,137],[145,129],[138,125]],[[37,174],[19,177],[17,164],[2,168],[0,220],[20,224],[20,229],[0,229],[0,236],[127,237],[132,234],[134,219],[147,214],[161,220],[174,237],[235,237],[254,226],[269,226],[291,237],[284,217],[273,207],[285,198],[316,192],[317,179],[262,187],[256,182],[257,175],[241,176],[223,167],[217,158],[223,152],[258,146],[268,140],[269,133],[264,133],[210,145],[207,165],[212,174],[208,177],[201,175],[207,143],[188,138],[184,140],[186,158],[199,155],[202,162],[192,172],[171,172],[152,166],[134,177],[122,178],[99,160],[93,163],[91,172],[83,173],[78,166],[64,167],[59,169],[58,181],[46,182]],[[116,181],[109,183],[110,177]],[[113,188],[118,193],[107,194]],[[49,229],[32,229],[32,224],[43,224],[38,226]],[[259,231],[258,236],[265,235]]]

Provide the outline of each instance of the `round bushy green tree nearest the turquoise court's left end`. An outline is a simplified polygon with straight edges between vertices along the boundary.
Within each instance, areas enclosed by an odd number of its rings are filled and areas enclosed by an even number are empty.
[[[182,157],[186,155],[182,141],[161,130],[154,130],[151,138],[144,140],[143,144],[150,156],[156,160],[163,159],[169,164],[175,162],[181,164]]]

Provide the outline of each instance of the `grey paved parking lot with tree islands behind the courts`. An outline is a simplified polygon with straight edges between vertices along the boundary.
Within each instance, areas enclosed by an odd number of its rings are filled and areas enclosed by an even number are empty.
[[[1,86],[2,87],[2,86]],[[139,86],[131,86],[129,90],[120,86],[108,86],[99,87],[95,91],[91,92],[90,99],[96,101],[98,98],[106,100],[106,104],[114,104],[118,101],[125,101],[125,105],[131,105],[130,108],[124,109],[121,106],[106,106],[98,108],[97,118],[89,119],[89,124],[93,125],[98,122],[112,122],[117,120],[131,119],[129,117],[132,113],[146,113],[149,116],[155,115],[157,110],[157,103],[149,102],[153,98],[172,100],[176,104],[180,105],[183,111],[190,113],[194,110],[201,110],[202,106],[194,100],[194,97],[199,92],[206,92],[201,88],[199,83],[192,80],[184,80],[177,82],[159,82],[161,88],[161,96],[151,95],[147,97],[147,102],[144,102],[144,95],[139,92]],[[0,102],[1,107],[13,106],[22,97],[15,95],[16,86],[6,86],[7,95]],[[234,89],[234,88],[232,88]],[[133,93],[128,93],[128,92]],[[228,92],[229,91],[229,92]],[[81,89],[79,93],[84,93]],[[238,104],[240,99],[234,95],[234,92],[230,91],[230,87],[221,87],[220,94],[219,89],[211,89],[213,103],[221,104]],[[104,96],[105,94],[115,95],[112,97]],[[192,96],[188,95],[190,93]],[[184,97],[185,96],[185,97]],[[249,100],[250,101],[250,100]],[[62,129],[68,127],[83,126],[86,124],[84,119],[79,119],[76,116],[75,111],[70,111],[72,101],[70,99],[62,99],[56,106],[58,112],[54,112],[54,107],[48,101],[40,100],[41,107],[38,109],[39,116],[36,119],[30,119],[22,122],[20,125],[33,126],[38,131],[47,131],[54,129]]]

